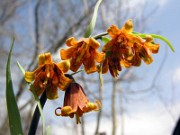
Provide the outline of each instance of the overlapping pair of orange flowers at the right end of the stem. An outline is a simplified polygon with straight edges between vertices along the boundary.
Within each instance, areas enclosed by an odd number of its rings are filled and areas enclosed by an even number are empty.
[[[116,77],[121,71],[121,66],[140,66],[141,59],[150,64],[153,61],[151,53],[158,52],[159,44],[154,44],[151,36],[148,35],[145,40],[132,33],[132,20],[128,20],[122,29],[112,25],[107,32],[112,39],[102,48],[108,55],[103,63],[102,73],[109,69],[111,75]]]

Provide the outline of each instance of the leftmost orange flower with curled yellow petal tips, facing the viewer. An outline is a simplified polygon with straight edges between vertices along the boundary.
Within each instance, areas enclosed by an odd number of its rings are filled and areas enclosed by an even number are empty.
[[[46,90],[48,99],[56,99],[57,89],[66,90],[71,83],[71,79],[64,76],[64,72],[67,72],[69,67],[68,61],[56,64],[52,61],[50,53],[40,54],[38,68],[33,72],[25,72],[25,80],[34,81],[30,90],[34,90],[38,96]]]

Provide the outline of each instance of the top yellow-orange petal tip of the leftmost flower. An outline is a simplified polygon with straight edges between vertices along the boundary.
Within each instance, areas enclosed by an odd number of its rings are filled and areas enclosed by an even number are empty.
[[[51,53],[39,54],[39,66],[52,63]]]

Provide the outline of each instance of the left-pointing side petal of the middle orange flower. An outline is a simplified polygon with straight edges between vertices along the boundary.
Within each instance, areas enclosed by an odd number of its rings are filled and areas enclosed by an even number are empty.
[[[70,47],[68,49],[61,49],[60,50],[60,56],[62,60],[67,60],[70,59],[72,57],[72,55],[74,54],[74,52],[76,51],[77,48],[75,47]]]

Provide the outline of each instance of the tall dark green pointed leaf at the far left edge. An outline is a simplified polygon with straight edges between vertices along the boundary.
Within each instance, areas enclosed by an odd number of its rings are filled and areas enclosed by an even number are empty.
[[[22,135],[22,125],[18,106],[13,91],[13,84],[11,79],[11,54],[14,46],[14,39],[12,41],[11,49],[9,52],[7,65],[6,65],[6,105],[9,118],[9,127],[11,135]]]

